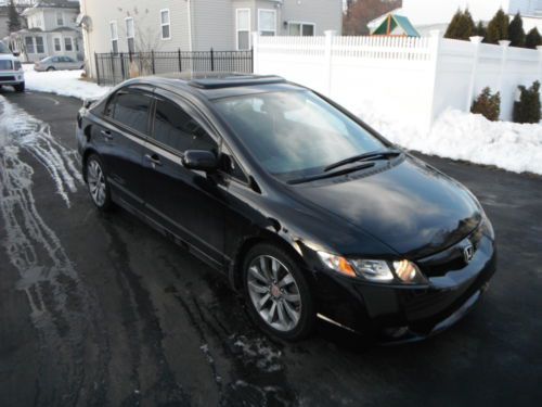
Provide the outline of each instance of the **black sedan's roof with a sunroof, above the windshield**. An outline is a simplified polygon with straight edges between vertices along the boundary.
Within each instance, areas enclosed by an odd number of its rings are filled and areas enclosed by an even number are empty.
[[[276,75],[236,72],[171,73],[131,79],[129,84],[156,86],[171,91],[182,90],[208,100],[273,90],[302,89]]]

